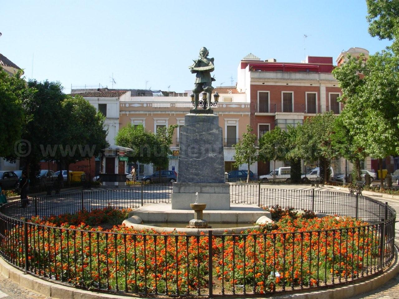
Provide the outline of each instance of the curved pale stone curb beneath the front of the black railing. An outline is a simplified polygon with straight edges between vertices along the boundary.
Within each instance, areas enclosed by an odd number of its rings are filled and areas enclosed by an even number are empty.
[[[5,260],[0,258],[0,273],[6,278],[9,278],[16,283],[19,283],[21,287],[31,289],[38,293],[41,293],[48,297],[59,298],[59,299],[131,299],[131,298],[143,298],[142,296],[126,296],[122,294],[112,295],[104,294],[95,291],[86,291],[77,289],[74,287],[67,287],[64,285],[59,285],[57,283],[49,282],[33,275],[25,274],[24,272],[14,268],[8,264]],[[384,283],[387,283],[390,279],[395,277],[399,273],[399,262],[398,262],[398,249],[395,246],[395,260],[393,264],[387,268],[381,275],[368,279],[367,281],[362,281],[359,283],[353,283],[344,285],[341,287],[335,287],[331,289],[319,289],[312,292],[304,293],[293,293],[293,294],[282,294],[277,296],[268,296],[260,298],[297,298],[297,299],[342,299],[352,296],[359,295],[361,293],[369,292],[373,289],[381,287]],[[229,296],[226,296],[229,297]],[[235,295],[237,297],[245,297],[244,295]],[[250,296],[251,298],[255,298]],[[157,296],[160,298],[160,296]],[[168,297],[170,298],[170,297]]]

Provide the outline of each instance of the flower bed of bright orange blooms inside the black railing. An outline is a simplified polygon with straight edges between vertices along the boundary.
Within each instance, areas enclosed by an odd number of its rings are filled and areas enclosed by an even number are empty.
[[[211,248],[203,234],[88,225],[127,212],[108,207],[32,218],[28,270],[89,289],[203,294],[209,287],[211,249],[213,287],[223,294],[337,283],[375,272],[378,263],[377,226],[348,217],[312,218],[310,212],[298,216],[292,209],[279,211],[280,220],[260,230],[213,236]],[[23,227],[17,226],[6,240],[11,243],[6,256],[20,266],[25,263],[23,236]]]

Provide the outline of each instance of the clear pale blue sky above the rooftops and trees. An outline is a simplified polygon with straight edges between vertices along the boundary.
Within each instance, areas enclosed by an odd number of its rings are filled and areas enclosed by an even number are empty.
[[[192,89],[188,66],[205,46],[215,58],[214,86],[237,80],[241,58],[300,62],[338,57],[390,41],[367,32],[363,0],[338,1],[6,1],[0,5],[0,53],[26,79],[114,88]],[[33,59],[32,59],[33,58]],[[33,71],[32,71],[33,60]]]

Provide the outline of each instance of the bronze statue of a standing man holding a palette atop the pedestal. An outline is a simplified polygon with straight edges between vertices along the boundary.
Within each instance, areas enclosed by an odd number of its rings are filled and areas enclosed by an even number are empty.
[[[213,65],[213,58],[208,58],[209,51],[207,48],[202,47],[199,50],[199,57],[194,61],[194,64],[189,67],[192,74],[196,74],[194,93],[194,109],[198,109],[199,94],[202,91],[207,93],[207,109],[211,109],[211,95],[212,95],[212,81],[215,81],[211,77],[211,72],[214,71],[215,66]]]

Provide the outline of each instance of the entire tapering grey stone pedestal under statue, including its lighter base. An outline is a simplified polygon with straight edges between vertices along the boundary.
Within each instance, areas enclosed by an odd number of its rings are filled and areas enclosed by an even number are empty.
[[[219,116],[186,114],[180,130],[179,174],[172,185],[172,209],[190,210],[190,203],[205,210],[230,209],[230,185],[225,182],[223,134]]]

